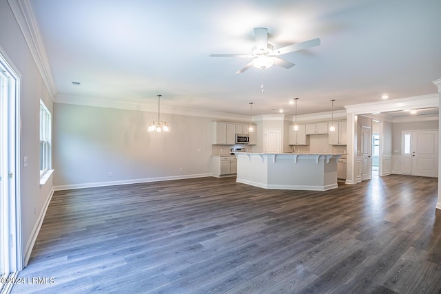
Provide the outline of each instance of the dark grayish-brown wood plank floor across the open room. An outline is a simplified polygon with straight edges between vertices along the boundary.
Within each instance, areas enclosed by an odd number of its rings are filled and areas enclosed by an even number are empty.
[[[12,293],[440,293],[437,178],[57,191]],[[50,284],[50,278],[54,283]]]

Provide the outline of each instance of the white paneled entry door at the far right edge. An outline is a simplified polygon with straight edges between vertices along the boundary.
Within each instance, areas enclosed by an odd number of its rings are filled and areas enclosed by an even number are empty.
[[[438,177],[438,131],[412,132],[412,176]]]

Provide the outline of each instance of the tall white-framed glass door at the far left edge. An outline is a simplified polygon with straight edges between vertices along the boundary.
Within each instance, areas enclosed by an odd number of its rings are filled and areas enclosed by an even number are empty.
[[[23,269],[21,238],[21,74],[0,46],[0,264],[1,275]]]

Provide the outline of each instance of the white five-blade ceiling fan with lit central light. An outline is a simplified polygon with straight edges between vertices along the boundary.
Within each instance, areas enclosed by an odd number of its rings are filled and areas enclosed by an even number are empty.
[[[260,70],[265,70],[265,68],[271,67],[274,64],[285,68],[291,68],[295,65],[294,63],[277,56],[320,45],[320,39],[316,38],[274,50],[273,45],[268,43],[267,28],[254,28],[254,38],[256,39],[256,45],[252,48],[252,54],[210,54],[210,57],[252,58],[253,60],[251,62],[236,72],[236,74],[241,74],[252,66]]]

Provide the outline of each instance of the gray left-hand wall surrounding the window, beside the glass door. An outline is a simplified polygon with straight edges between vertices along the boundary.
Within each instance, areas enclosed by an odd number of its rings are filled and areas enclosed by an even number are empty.
[[[28,156],[28,167],[21,166],[21,225],[23,252],[30,246],[46,200],[52,191],[52,178],[40,186],[39,110],[40,99],[52,112],[52,100],[43,83],[8,1],[0,1],[0,46],[5,57],[21,74],[21,158]],[[34,213],[34,207],[36,209]]]

